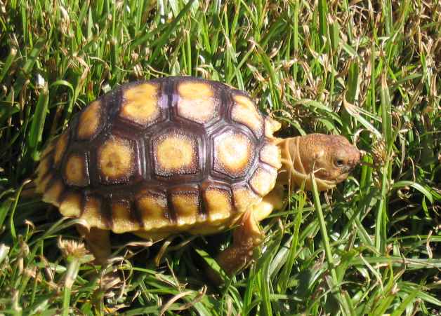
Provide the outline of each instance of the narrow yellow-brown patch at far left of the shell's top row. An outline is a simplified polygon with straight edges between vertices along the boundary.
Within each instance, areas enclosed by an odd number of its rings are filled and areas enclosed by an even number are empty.
[[[80,140],[91,139],[98,130],[101,123],[101,102],[93,101],[81,113],[78,120],[77,138]]]

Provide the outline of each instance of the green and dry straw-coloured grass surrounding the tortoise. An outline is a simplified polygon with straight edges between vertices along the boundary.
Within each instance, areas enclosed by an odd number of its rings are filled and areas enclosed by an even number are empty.
[[[1,312],[439,314],[440,38],[436,0],[0,0]],[[202,263],[216,266],[230,232],[168,249],[114,236],[101,268],[72,243],[75,221],[27,189],[73,114],[169,75],[247,90],[281,135],[337,133],[365,153],[333,192],[289,196],[263,221],[255,263],[224,287]]]

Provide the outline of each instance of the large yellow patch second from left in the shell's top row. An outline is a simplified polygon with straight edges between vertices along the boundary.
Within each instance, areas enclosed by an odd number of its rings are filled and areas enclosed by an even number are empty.
[[[153,83],[127,88],[123,93],[119,117],[147,128],[161,115],[158,91],[159,85]]]

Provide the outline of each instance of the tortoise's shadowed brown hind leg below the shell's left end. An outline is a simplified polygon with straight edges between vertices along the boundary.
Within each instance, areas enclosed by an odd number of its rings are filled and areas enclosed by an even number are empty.
[[[110,250],[110,231],[92,227],[88,230],[82,225],[77,225],[78,233],[86,240],[87,249],[95,256],[98,264],[106,263],[112,254]]]

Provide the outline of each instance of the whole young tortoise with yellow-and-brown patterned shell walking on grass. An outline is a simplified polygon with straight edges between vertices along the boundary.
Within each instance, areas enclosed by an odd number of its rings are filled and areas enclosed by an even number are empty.
[[[152,240],[235,227],[218,255],[232,274],[262,241],[258,221],[283,204],[284,186],[319,190],[345,180],[360,152],[339,135],[281,139],[246,92],[192,77],[119,86],[72,118],[37,167],[37,192],[79,231],[98,262],[110,231]]]

